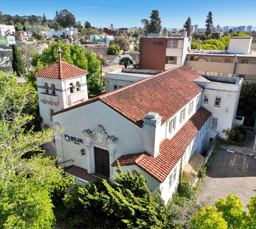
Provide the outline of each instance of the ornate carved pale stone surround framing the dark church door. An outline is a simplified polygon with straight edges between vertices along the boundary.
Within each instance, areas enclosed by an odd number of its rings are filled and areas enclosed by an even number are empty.
[[[101,125],[91,131],[90,129],[84,130],[85,147],[88,161],[88,173],[95,173],[95,158],[94,158],[94,146],[107,150],[109,152],[109,168],[110,175],[113,174],[113,167],[111,164],[115,162],[115,152],[118,139],[115,136],[109,136],[105,129]]]

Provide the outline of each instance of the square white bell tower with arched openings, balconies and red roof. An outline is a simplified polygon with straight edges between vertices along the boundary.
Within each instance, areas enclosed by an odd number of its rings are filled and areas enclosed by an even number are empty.
[[[88,99],[86,70],[63,62],[59,47],[59,61],[34,74],[37,81],[39,113],[42,129],[53,127],[51,114]],[[56,156],[52,144],[44,146],[45,154]]]

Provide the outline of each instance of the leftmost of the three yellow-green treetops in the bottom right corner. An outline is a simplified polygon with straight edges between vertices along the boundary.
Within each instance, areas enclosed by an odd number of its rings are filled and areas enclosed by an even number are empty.
[[[217,213],[216,207],[201,208],[191,220],[190,229],[227,229],[227,222],[222,218],[222,213]]]

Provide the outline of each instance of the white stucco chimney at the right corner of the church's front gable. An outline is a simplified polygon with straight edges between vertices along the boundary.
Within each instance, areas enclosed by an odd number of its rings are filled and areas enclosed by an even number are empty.
[[[150,156],[156,157],[159,154],[161,142],[161,119],[158,113],[149,112],[143,118],[143,150]]]

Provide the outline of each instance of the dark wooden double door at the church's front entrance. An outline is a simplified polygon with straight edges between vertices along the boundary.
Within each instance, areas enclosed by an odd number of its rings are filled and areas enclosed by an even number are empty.
[[[94,147],[95,173],[109,177],[109,152]]]

